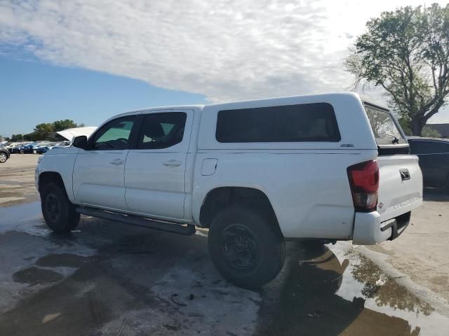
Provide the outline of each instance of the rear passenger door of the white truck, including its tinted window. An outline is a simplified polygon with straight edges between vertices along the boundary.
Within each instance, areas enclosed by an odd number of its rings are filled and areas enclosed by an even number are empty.
[[[125,167],[126,204],[152,217],[184,218],[185,169],[194,111],[145,115]]]

